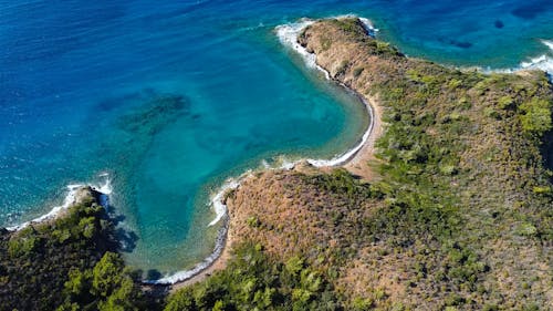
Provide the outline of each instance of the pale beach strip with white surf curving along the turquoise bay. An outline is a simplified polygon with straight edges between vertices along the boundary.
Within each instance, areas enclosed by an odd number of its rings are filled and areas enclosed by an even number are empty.
[[[341,15],[335,17],[340,18],[352,18],[352,15]],[[355,17],[358,18],[358,17]],[[374,35],[377,32],[377,29],[374,29],[371,22],[366,19],[358,18],[362,23],[365,25],[365,30],[368,35]],[[327,70],[319,65],[316,62],[316,55],[314,53],[310,53],[298,43],[298,37],[307,25],[312,24],[314,21],[312,20],[303,20],[300,23],[293,24],[284,24],[276,27],[276,31],[283,29],[285,27],[290,27],[283,31],[284,38],[279,35],[279,39],[284,45],[293,49],[300,55],[303,56],[307,66],[313,66],[324,73],[325,77],[333,83],[337,83],[343,86],[345,91],[354,93],[361,101],[363,105],[365,105],[367,110],[367,115],[369,117],[369,124],[367,129],[363,134],[361,141],[351,149],[346,151],[342,155],[331,158],[331,159],[311,159],[304,158],[292,163],[284,163],[279,167],[268,167],[265,169],[284,169],[292,170],[301,163],[307,163],[320,169],[330,169],[333,167],[343,167],[347,169],[351,174],[358,176],[363,179],[373,179],[375,178],[375,173],[371,169],[367,162],[374,160],[374,152],[375,152],[375,143],[378,137],[383,134],[384,127],[382,122],[383,115],[383,106],[379,104],[377,97],[369,97],[358,93],[356,90],[347,86],[341,81],[333,79]],[[291,35],[293,35],[294,40],[290,40]],[[230,250],[232,249],[232,245],[234,242],[234,237],[232,235],[232,211],[229,210],[226,204],[226,194],[229,190],[237,189],[240,187],[240,184],[244,178],[249,178],[251,175],[251,170],[246,172],[238,178],[229,179],[220,190],[212,198],[212,206],[216,210],[216,218],[209,224],[212,226],[217,224],[220,219],[225,218],[226,224],[221,228],[222,230],[219,232],[217,242],[213,252],[209,257],[206,258],[202,262],[196,265],[192,269],[177,272],[175,274],[161,278],[159,280],[145,280],[143,281],[145,284],[149,286],[170,286],[171,290],[177,290],[179,288],[194,284],[196,282],[205,280],[207,277],[211,276],[213,272],[218,270],[222,270],[227,267],[227,262],[231,257]],[[208,262],[209,259],[215,258],[211,262]]]

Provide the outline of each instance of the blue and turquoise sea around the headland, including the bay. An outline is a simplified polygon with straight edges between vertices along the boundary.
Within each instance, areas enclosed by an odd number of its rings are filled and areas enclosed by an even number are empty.
[[[356,13],[409,55],[455,65],[553,56],[546,0],[158,2],[0,0],[0,225],[108,173],[132,265],[201,260],[227,177],[280,155],[330,158],[366,126],[276,39],[302,17]]]

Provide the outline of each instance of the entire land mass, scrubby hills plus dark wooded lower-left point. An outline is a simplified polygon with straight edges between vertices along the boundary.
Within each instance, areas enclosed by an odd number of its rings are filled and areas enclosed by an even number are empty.
[[[171,288],[124,267],[90,193],[2,231],[0,299],[18,300],[0,310],[550,310],[549,76],[407,58],[353,17],[314,21],[298,43],[371,105],[352,158],[242,178],[223,198],[222,255]]]

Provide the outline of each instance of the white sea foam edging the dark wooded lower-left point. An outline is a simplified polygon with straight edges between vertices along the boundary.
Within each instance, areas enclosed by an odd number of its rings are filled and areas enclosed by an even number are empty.
[[[101,204],[103,206],[107,206],[107,196],[112,193],[112,185],[111,185],[109,177],[108,177],[107,173],[105,173],[105,175],[101,175],[101,176],[105,177],[104,184],[102,184],[102,185],[88,185],[88,186],[91,186],[93,189],[95,189],[96,191],[98,191],[103,195],[101,197]],[[80,189],[84,186],[86,186],[86,185],[85,184],[70,184],[70,185],[67,185],[66,186],[67,195],[65,195],[65,198],[63,199],[62,205],[53,207],[49,212],[46,212],[40,217],[36,217],[32,220],[25,221],[23,224],[17,225],[17,226],[8,227],[6,229],[8,229],[9,231],[19,231],[21,229],[27,228],[31,224],[38,224],[38,222],[54,219],[62,211],[66,210],[70,206],[72,206],[75,203],[77,189]]]

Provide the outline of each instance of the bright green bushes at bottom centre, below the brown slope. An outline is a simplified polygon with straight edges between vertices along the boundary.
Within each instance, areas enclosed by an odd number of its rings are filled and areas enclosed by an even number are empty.
[[[234,258],[207,281],[168,299],[166,311],[187,310],[336,310],[328,282],[299,257],[285,263],[268,257],[260,245],[240,245]]]

